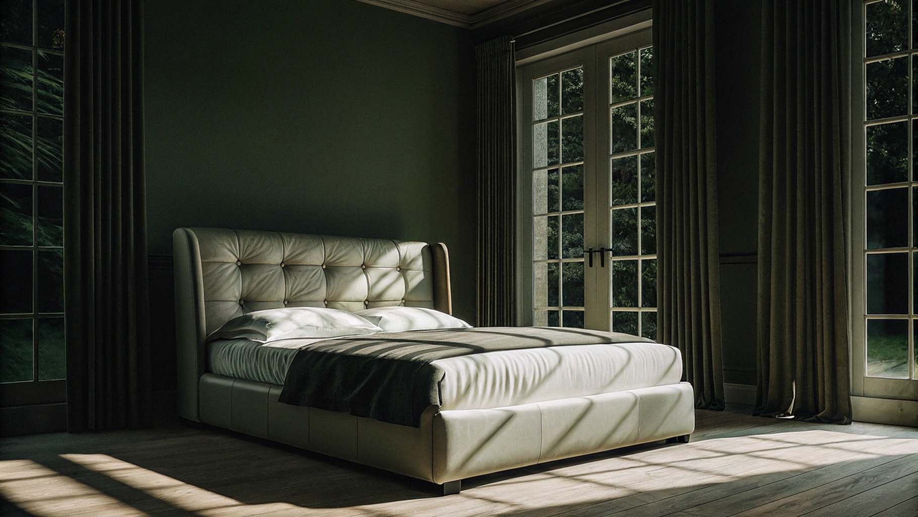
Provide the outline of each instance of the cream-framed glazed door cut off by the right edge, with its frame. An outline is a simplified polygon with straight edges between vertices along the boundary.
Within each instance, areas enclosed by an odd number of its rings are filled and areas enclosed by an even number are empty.
[[[853,52],[860,128],[852,174],[852,393],[867,399],[918,400],[915,11],[903,0],[854,3],[861,38]]]

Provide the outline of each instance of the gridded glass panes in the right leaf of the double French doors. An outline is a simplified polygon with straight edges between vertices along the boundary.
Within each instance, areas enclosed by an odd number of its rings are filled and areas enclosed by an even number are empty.
[[[609,60],[611,329],[656,339],[654,54]]]

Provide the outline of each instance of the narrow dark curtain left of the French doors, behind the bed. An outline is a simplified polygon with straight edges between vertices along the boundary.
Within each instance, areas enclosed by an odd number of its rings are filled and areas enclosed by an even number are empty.
[[[509,36],[476,46],[478,326],[516,325],[516,68]]]

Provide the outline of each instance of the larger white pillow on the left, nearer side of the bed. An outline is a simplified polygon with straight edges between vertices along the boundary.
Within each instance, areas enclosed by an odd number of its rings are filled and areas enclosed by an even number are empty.
[[[353,312],[319,307],[255,310],[227,321],[207,336],[215,339],[244,338],[270,343],[292,338],[335,338],[383,332]]]

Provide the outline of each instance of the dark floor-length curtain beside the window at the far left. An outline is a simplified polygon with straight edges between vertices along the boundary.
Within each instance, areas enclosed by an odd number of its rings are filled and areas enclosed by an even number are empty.
[[[148,421],[140,0],[67,0],[64,296],[72,433]]]

